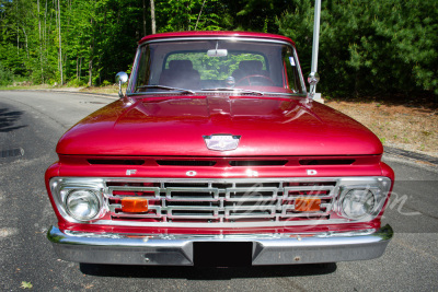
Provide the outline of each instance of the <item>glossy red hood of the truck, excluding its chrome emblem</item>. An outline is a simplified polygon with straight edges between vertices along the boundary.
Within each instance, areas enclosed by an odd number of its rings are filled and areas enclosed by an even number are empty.
[[[164,96],[116,101],[60,139],[59,154],[268,156],[381,154],[359,122],[304,100],[254,96]],[[238,149],[208,150],[203,136],[241,136]]]

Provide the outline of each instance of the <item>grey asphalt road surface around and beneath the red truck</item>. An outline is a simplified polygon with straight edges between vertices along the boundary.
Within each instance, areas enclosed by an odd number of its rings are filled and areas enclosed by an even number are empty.
[[[76,121],[114,100],[0,92],[0,291],[438,291],[438,172],[387,157],[397,177],[385,213],[394,238],[373,260],[253,268],[67,262],[46,240],[56,223],[44,172]]]

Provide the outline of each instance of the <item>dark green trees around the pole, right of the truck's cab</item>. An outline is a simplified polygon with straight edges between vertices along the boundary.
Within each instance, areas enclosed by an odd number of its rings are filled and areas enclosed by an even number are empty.
[[[277,19],[279,33],[296,40],[309,72],[313,5]],[[435,91],[438,94],[438,4],[436,1],[327,1],[321,11],[321,91],[376,94]]]

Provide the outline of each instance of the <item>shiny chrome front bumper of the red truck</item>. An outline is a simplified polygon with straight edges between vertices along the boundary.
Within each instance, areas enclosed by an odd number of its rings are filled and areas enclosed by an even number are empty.
[[[252,243],[252,265],[336,262],[380,257],[392,238],[380,230],[316,234],[145,235],[47,233],[57,255],[89,264],[193,266],[194,243]],[[215,250],[211,250],[215,253]]]

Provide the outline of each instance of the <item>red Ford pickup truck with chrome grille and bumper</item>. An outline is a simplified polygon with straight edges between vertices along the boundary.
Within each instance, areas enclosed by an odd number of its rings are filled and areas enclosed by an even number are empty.
[[[126,94],[56,151],[47,236],[66,260],[334,262],[380,257],[393,234],[381,142],[312,100],[279,35],[143,37]]]

